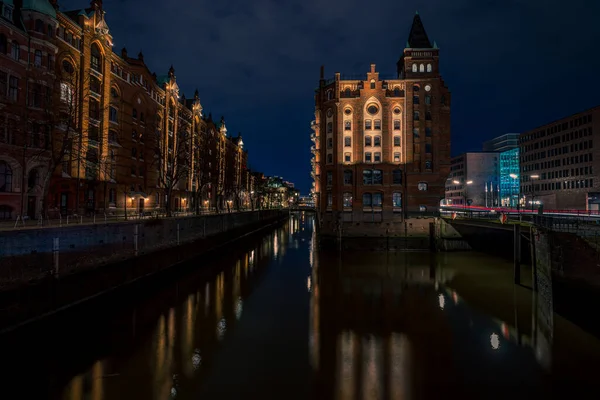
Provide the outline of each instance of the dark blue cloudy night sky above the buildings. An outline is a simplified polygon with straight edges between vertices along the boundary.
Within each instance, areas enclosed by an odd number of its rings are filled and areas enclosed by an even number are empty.
[[[59,0],[61,10],[86,0]],[[310,121],[326,77],[394,74],[416,10],[452,91],[452,153],[600,104],[596,0],[104,0],[115,51],[173,64],[186,96],[241,132],[252,169],[310,188]],[[368,5],[368,8],[365,8]]]

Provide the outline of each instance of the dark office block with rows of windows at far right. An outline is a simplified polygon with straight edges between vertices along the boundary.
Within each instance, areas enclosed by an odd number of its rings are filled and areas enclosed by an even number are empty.
[[[521,196],[527,207],[598,210],[600,106],[520,136]]]

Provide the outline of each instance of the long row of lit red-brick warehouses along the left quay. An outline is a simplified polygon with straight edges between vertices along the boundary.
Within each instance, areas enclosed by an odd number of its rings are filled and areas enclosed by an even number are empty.
[[[0,4],[0,219],[240,204],[241,137],[180,93],[173,67],[114,52],[101,0]]]

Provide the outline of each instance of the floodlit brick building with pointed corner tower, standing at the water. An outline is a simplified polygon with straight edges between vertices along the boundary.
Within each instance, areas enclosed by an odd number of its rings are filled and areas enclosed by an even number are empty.
[[[325,79],[311,135],[313,196],[322,233],[404,230],[437,212],[450,166],[450,92],[439,49],[415,15],[397,73]]]

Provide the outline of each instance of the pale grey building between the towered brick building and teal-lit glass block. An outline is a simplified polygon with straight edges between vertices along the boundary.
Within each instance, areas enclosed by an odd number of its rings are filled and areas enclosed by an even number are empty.
[[[496,152],[471,152],[453,157],[446,180],[447,205],[498,207],[499,158]]]

